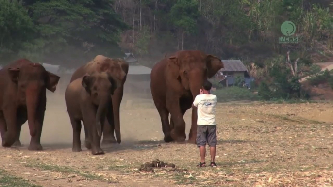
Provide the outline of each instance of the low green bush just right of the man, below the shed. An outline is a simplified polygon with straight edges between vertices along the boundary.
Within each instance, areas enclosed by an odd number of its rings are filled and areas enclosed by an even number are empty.
[[[258,95],[253,94],[249,89],[232,86],[216,90],[214,94],[218,101],[239,101],[239,100],[259,100]]]

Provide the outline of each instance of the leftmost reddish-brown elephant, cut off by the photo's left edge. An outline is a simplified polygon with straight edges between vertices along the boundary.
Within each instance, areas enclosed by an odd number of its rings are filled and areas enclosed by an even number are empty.
[[[46,89],[54,92],[60,77],[39,63],[18,59],[0,70],[0,130],[3,147],[21,146],[21,127],[28,120],[28,150],[43,150],[40,144]]]

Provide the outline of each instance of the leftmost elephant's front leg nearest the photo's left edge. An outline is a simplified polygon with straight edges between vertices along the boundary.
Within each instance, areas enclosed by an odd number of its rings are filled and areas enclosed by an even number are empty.
[[[14,144],[16,133],[17,133],[17,125],[16,125],[16,107],[14,105],[7,107],[3,111],[3,115],[5,118],[5,122],[7,125],[7,132],[4,134],[2,139],[3,147],[10,147]]]

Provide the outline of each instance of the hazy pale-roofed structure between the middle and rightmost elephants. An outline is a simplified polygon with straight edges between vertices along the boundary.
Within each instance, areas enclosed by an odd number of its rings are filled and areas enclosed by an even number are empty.
[[[124,89],[129,93],[150,93],[151,69],[141,65],[133,54],[125,55],[124,60],[129,64],[129,69]]]

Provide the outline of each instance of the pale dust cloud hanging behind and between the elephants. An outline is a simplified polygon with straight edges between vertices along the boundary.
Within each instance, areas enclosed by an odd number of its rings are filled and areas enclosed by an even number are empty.
[[[41,144],[49,146],[67,144],[71,147],[73,135],[72,126],[66,113],[65,89],[69,83],[70,76],[61,76],[57,90],[51,93],[47,90],[47,105],[45,111],[44,125],[41,136]],[[120,107],[120,131],[121,144],[129,144],[139,141],[163,140],[160,116],[153,104],[150,91],[145,94],[133,90],[129,92],[130,81],[126,80],[124,85],[124,96]],[[135,94],[133,94],[135,93]],[[192,110],[187,110],[184,119],[186,122],[186,135],[191,127]],[[82,124],[81,143],[84,142],[84,129]],[[22,125],[20,141],[24,147],[30,143],[28,122]],[[85,148],[84,145],[81,146]]]

